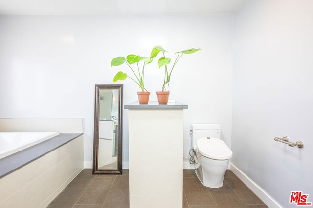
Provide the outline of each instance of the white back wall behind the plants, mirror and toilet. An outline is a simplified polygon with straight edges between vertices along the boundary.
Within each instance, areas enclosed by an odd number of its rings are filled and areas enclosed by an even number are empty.
[[[84,118],[85,165],[91,167],[94,85],[112,84],[121,68],[111,69],[111,59],[149,56],[155,45],[173,53],[195,47],[202,50],[182,57],[171,84],[170,99],[189,107],[184,155],[190,149],[191,123],[221,124],[230,146],[232,24],[232,15],[0,16],[0,117]],[[146,68],[152,101],[162,79],[156,62]],[[123,84],[124,103],[137,101],[136,85],[130,80]],[[125,110],[126,166],[127,119]]]

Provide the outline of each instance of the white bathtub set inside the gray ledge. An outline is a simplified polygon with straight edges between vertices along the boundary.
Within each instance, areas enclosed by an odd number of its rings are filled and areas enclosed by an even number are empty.
[[[59,132],[0,132],[0,159],[59,135]]]

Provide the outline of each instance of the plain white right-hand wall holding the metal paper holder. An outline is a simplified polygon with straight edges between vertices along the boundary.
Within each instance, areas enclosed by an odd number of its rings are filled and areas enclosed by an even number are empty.
[[[313,1],[253,0],[234,17],[232,164],[283,207],[313,201]],[[273,140],[289,136],[304,148]]]

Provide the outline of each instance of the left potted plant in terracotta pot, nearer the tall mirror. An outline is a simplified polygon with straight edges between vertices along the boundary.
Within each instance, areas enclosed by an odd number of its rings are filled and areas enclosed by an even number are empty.
[[[111,66],[119,66],[122,64],[126,64],[132,71],[134,77],[128,76],[126,73],[119,71],[113,78],[113,82],[123,81],[127,77],[133,80],[141,89],[141,91],[137,92],[138,100],[140,104],[148,104],[150,92],[147,91],[144,85],[144,72],[145,65],[151,63],[153,59],[150,57],[140,57],[138,55],[130,54],[126,58],[125,57],[116,57],[111,61]],[[139,67],[139,62],[142,61],[142,68]],[[132,68],[132,65],[136,65],[136,69]]]

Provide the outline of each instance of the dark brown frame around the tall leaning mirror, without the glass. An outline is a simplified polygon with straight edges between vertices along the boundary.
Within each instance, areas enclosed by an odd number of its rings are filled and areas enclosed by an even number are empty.
[[[118,154],[117,170],[98,169],[98,151],[99,151],[99,104],[100,90],[118,89],[119,106],[118,106]],[[122,84],[96,84],[94,100],[94,133],[93,133],[93,164],[92,174],[122,174],[122,140],[123,140],[123,85]]]

